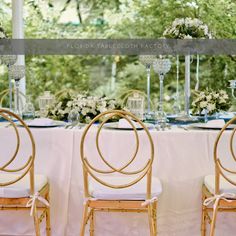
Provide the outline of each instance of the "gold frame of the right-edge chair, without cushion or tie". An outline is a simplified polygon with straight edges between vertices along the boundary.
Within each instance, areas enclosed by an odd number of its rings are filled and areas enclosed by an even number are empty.
[[[224,131],[227,129],[227,127],[233,123],[235,123],[236,117],[232,118],[230,121],[228,121],[224,127],[220,130],[215,144],[214,144],[214,162],[215,162],[215,193],[212,194],[208,188],[203,184],[202,187],[202,219],[201,219],[201,235],[205,236],[206,235],[206,222],[210,224],[210,236],[215,235],[215,225],[216,225],[216,217],[218,212],[236,212],[236,199],[228,198],[228,199],[219,199],[218,203],[216,202],[215,210],[213,206],[205,206],[204,202],[207,198],[214,197],[216,195],[222,194],[220,192],[220,178],[224,178],[227,180],[229,183],[233,184],[236,186],[236,182],[231,180],[230,178],[227,177],[226,173],[230,174],[236,174],[236,171],[230,170],[226,167],[223,166],[223,164],[220,161],[220,158],[218,157],[218,147],[219,147],[219,142],[221,140],[221,137],[224,133]],[[236,132],[236,128],[232,130],[232,134],[230,136],[230,153],[236,162],[236,155],[234,153],[233,149],[233,141],[234,141],[234,135]],[[230,200],[230,201],[227,201]],[[210,216],[209,213],[212,213],[212,217]]]

